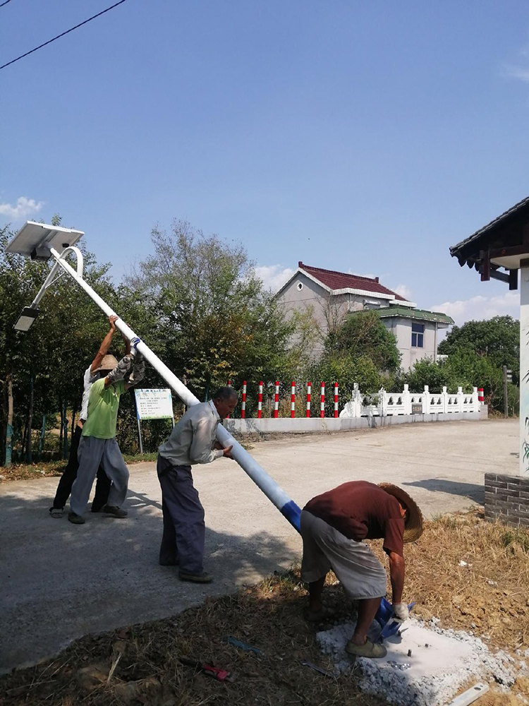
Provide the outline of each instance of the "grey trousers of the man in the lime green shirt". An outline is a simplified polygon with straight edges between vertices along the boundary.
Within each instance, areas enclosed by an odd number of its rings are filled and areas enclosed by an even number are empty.
[[[77,457],[79,468],[70,498],[72,512],[75,515],[83,515],[85,512],[99,465],[112,481],[108,505],[121,507],[127,496],[128,468],[116,439],[81,436]]]

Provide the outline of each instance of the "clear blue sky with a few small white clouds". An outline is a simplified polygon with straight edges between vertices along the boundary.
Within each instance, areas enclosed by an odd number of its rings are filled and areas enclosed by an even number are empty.
[[[110,4],[11,0],[0,65]],[[127,0],[0,71],[0,107],[0,226],[61,213],[116,278],[182,218],[271,285],[303,260],[518,310],[448,248],[529,194],[525,1]]]

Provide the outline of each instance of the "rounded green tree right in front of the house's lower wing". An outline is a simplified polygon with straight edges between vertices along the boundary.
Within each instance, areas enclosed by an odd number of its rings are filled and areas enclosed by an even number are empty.
[[[348,316],[339,328],[327,335],[325,351],[332,356],[369,358],[379,372],[394,372],[401,364],[396,338],[375,311],[358,311]]]

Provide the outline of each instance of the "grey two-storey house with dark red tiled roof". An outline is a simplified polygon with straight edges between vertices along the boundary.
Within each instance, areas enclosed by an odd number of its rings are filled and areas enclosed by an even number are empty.
[[[293,311],[310,311],[322,339],[329,327],[343,321],[348,314],[373,309],[396,337],[404,370],[421,358],[437,360],[439,329],[454,323],[450,316],[439,311],[418,309],[415,302],[384,287],[378,277],[324,270],[301,261],[296,272],[276,293],[276,299],[287,315]],[[315,356],[321,352],[322,344],[315,349]]]

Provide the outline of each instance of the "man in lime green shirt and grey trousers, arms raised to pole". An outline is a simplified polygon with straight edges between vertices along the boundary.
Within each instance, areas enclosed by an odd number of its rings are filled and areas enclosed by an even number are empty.
[[[139,341],[139,339],[138,339]],[[132,367],[132,373],[129,371]],[[126,517],[121,508],[127,496],[128,468],[116,441],[119,398],[142,380],[145,362],[138,351],[131,352],[118,362],[107,376],[93,383],[88,397],[88,418],[83,426],[79,442],[79,468],[72,486],[71,513],[68,520],[74,525],[84,525],[85,512],[92,484],[99,465],[111,479],[109,498],[102,513],[114,517]],[[128,376],[128,381],[123,378]]]

